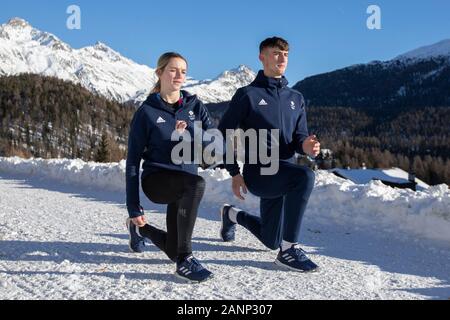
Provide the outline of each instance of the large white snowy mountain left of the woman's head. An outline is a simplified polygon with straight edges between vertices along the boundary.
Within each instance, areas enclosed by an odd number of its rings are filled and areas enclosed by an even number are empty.
[[[110,100],[126,102],[152,87],[154,70],[98,42],[71,48],[20,18],[0,26],[0,76],[33,73],[81,84]]]

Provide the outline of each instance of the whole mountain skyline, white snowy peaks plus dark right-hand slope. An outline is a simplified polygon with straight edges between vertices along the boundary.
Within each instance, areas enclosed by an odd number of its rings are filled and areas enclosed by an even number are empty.
[[[157,79],[155,69],[135,63],[104,43],[75,49],[20,18],[0,26],[0,58],[0,76],[32,73],[57,77],[120,103],[138,105]],[[189,78],[184,89],[221,111],[236,90],[248,85],[255,76],[253,70],[241,65],[212,80]],[[293,88],[303,93],[309,106],[448,106],[450,40],[389,61],[307,77]]]

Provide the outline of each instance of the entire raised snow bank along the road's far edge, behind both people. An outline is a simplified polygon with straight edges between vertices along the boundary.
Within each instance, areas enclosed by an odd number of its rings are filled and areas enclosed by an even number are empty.
[[[82,160],[0,157],[1,172],[125,192],[125,161],[99,164]],[[232,201],[242,209],[258,212],[257,197],[247,195],[245,202],[238,202],[233,197],[226,171],[200,170],[200,175],[207,183],[204,204],[219,207]],[[354,184],[327,171],[318,171],[307,217],[325,224],[373,226],[450,243],[450,191],[447,185],[414,192],[392,188],[379,181]]]

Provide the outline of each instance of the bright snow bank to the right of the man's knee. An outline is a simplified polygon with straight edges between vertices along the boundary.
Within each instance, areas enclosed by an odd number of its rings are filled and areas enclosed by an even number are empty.
[[[354,184],[319,171],[308,210],[323,223],[403,230],[450,243],[450,190],[445,184],[414,192],[380,181]]]

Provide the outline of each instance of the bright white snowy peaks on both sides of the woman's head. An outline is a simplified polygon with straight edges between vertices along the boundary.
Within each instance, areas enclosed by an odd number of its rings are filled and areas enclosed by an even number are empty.
[[[33,73],[56,77],[118,102],[140,104],[157,80],[154,69],[135,63],[103,42],[74,49],[21,18],[0,26],[0,57],[0,76]],[[255,76],[241,65],[214,80],[189,78],[185,89],[204,103],[224,102]]]

